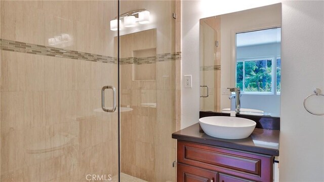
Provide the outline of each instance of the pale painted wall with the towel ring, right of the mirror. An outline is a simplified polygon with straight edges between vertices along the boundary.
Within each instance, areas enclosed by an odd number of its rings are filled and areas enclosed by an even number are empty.
[[[323,1],[282,2],[281,58],[287,60],[281,63],[282,181],[324,181],[324,116],[311,115],[303,106],[314,88],[324,90],[323,22]],[[323,98],[310,105],[324,111]]]

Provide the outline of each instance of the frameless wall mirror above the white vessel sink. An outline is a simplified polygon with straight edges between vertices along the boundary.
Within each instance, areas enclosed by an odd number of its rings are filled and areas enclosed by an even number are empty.
[[[281,4],[200,19],[200,111],[280,116]],[[232,104],[231,104],[232,103]]]

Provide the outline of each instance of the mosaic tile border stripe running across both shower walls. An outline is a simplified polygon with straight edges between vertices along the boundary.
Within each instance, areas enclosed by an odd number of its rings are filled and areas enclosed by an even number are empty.
[[[70,59],[79,59],[79,60],[87,60],[87,61],[94,61],[94,62],[104,62],[104,63],[113,63],[113,64],[117,64],[118,62],[117,58],[115,57],[55,48],[50,46],[42,46],[37,44],[29,44],[29,43],[23,43],[18,41],[10,41],[5,39],[0,39],[0,49],[4,51],[13,51],[13,52],[21,52],[27,54],[36,54],[36,55],[70,58]],[[151,56],[151,57],[121,58],[119,63],[120,64],[152,64],[155,63],[156,61],[170,61],[170,60],[180,60],[180,59],[181,59],[181,52],[177,52],[173,54],[171,53],[157,54],[156,56]]]

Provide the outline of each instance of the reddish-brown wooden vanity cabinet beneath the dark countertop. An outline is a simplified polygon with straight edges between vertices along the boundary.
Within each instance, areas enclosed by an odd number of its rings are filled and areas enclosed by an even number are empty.
[[[177,141],[177,181],[272,181],[273,156]]]

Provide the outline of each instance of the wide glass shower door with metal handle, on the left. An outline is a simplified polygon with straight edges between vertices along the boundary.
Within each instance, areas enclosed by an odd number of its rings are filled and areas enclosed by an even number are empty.
[[[0,5],[1,181],[118,181],[118,1]]]

